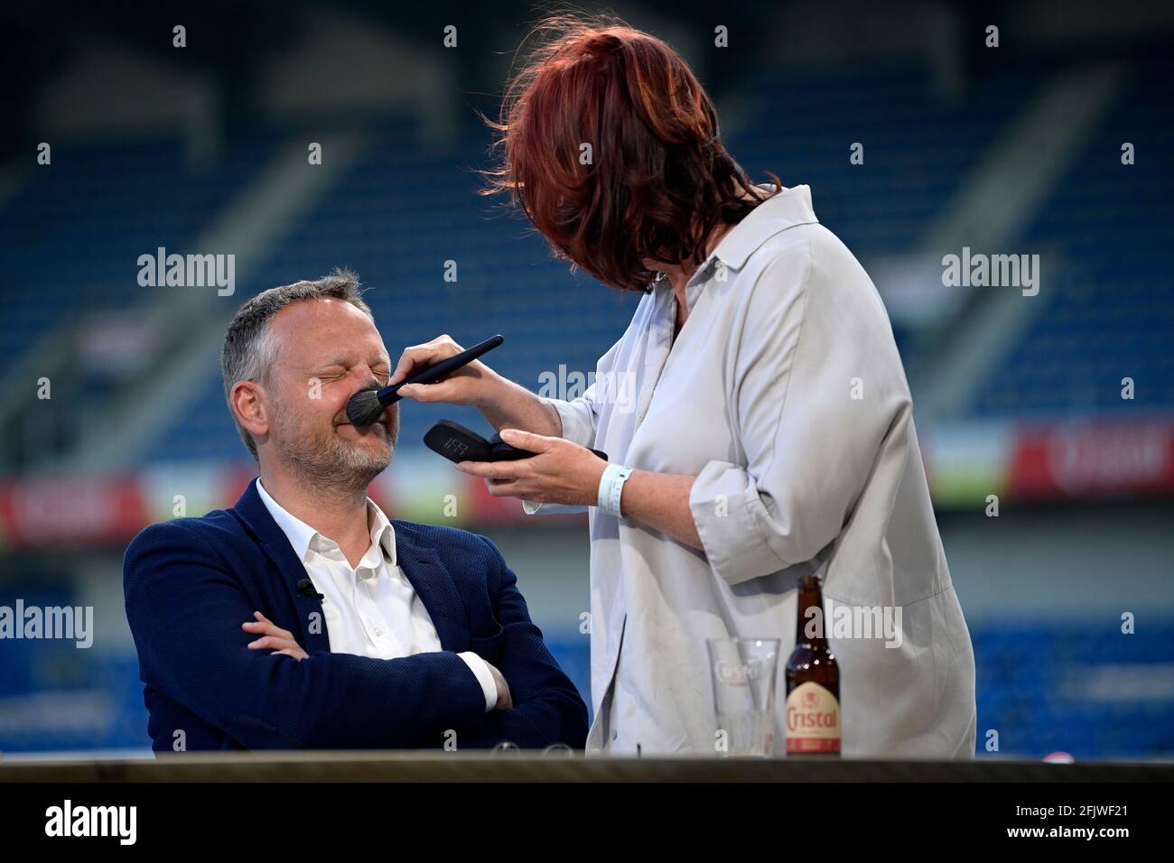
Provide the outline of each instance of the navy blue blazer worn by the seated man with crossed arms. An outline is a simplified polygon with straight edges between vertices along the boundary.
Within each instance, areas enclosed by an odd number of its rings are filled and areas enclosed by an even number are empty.
[[[448,740],[458,749],[583,747],[587,708],[493,542],[393,520],[397,562],[443,649],[393,660],[331,653],[322,602],[298,591],[305,567],[256,484],[231,510],[153,525],[127,548],[127,620],[156,751],[407,749]],[[289,629],[309,658],[249,649],[255,636],[241,623],[254,611]],[[513,709],[485,712],[463,650],[501,672]]]

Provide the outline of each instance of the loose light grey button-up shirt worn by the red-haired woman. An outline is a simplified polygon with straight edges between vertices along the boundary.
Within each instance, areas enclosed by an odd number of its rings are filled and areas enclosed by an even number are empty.
[[[564,438],[696,477],[689,508],[704,546],[589,507],[588,750],[714,754],[707,639],[780,639],[784,699],[796,578],[815,572],[829,605],[902,614],[897,647],[829,631],[844,755],[972,757],[970,633],[868,274],[798,186],[722,238],[686,299],[674,343],[676,296],[655,283],[594,385],[548,399]],[[539,508],[553,507],[527,501]],[[776,707],[778,754],[782,715]]]

